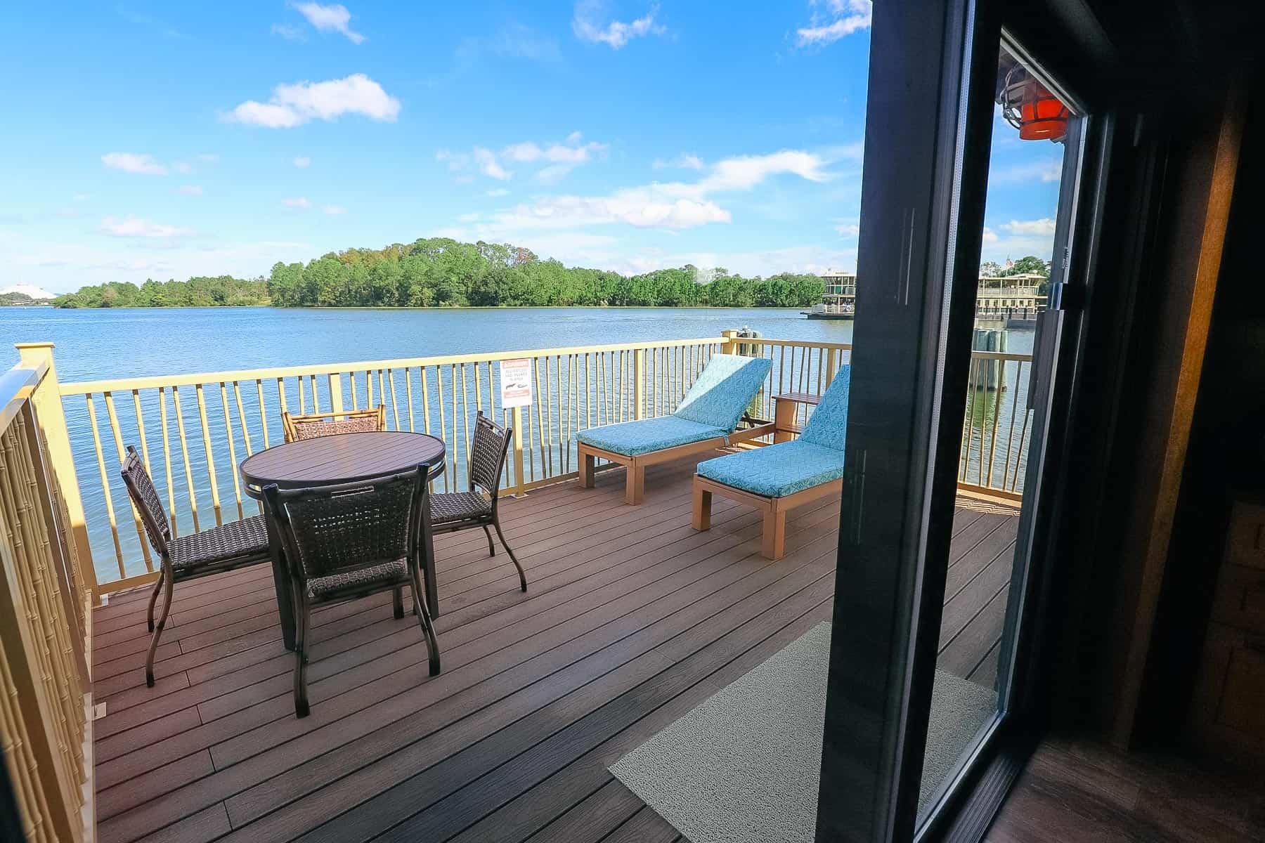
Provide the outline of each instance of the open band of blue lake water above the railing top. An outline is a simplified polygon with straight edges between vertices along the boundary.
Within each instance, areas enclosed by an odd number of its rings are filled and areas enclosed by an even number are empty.
[[[764,336],[850,343],[851,322],[764,308],[273,310],[0,307],[0,364],[14,343],[52,340],[62,380],[388,360],[635,343],[749,326]]]

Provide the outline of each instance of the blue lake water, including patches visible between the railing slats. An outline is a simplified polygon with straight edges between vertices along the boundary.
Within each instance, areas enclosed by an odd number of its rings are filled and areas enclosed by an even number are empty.
[[[13,343],[27,341],[52,341],[56,344],[54,355],[58,375],[66,383],[101,378],[689,339],[719,336],[724,330],[740,327],[750,327],[765,337],[781,340],[829,343],[851,343],[853,340],[853,324],[850,321],[810,320],[796,310],[778,308],[273,310],[267,307],[225,307],[53,310],[47,307],[0,307],[0,341],[3,341],[0,365],[8,368],[16,361],[18,355],[13,349]],[[1031,331],[1011,331],[1009,350],[1027,353],[1031,348]],[[8,355],[8,358],[3,355]],[[601,380],[602,373],[596,368],[596,361],[593,365],[591,374],[581,375],[578,369],[568,373],[554,369],[550,374],[546,364],[544,377],[546,380],[553,379],[555,384],[562,384],[565,380],[567,385],[557,388],[552,394],[572,394],[577,401],[577,407],[584,406],[586,416],[591,404],[596,408],[596,415],[588,420],[588,423],[616,421],[617,416],[611,416],[608,408],[607,416],[602,416],[602,402],[596,397],[596,393],[592,402],[579,397],[582,392],[588,394],[589,377]],[[793,365],[792,355],[792,369]],[[670,378],[672,370],[668,372],[667,377]],[[407,373],[404,377],[407,378]],[[416,378],[416,373],[412,377]],[[452,460],[444,483],[455,484],[458,474],[464,466],[464,447],[469,431],[468,426],[460,432],[458,430],[457,382],[453,379],[455,375],[449,370],[447,374],[434,372],[431,377],[433,380],[426,388],[431,401],[429,415],[425,412],[424,404],[420,403],[421,384],[415,383],[414,408],[419,412],[417,428],[421,430],[421,417],[428,416],[434,422],[434,427],[428,427],[428,430],[443,434],[449,445]],[[478,375],[473,374],[472,377]],[[484,367],[482,377],[491,378],[493,374]],[[615,379],[621,377],[620,373],[607,370],[606,377],[611,379],[615,394],[622,392],[621,388],[615,387]],[[1012,377],[1015,377],[1013,369]],[[996,417],[997,423],[993,426],[1004,432],[1008,427],[1013,427],[1012,418],[1022,420],[1026,416],[1016,403],[1020,396],[1026,394],[1026,383],[1027,372],[1025,369],[1016,382],[1017,389],[988,392],[987,394],[980,392],[977,396],[978,401],[973,398],[968,411],[977,422],[970,427],[970,442],[978,452],[983,452],[980,446],[989,431],[988,420]],[[464,394],[464,374],[460,378],[460,384]],[[247,384],[244,389],[244,402],[248,411],[252,411],[252,402],[257,404],[254,412],[247,412],[247,416],[252,418],[242,423],[230,421],[228,425],[231,428],[238,460],[247,451],[245,434],[253,437],[257,446],[262,444],[262,408],[264,406],[273,441],[281,437],[277,427],[281,407],[280,397],[275,393],[276,384],[268,385],[268,389],[273,392],[268,392],[262,403],[252,394],[254,391],[249,385]],[[347,382],[344,394],[349,394],[349,385]],[[443,409],[440,391],[448,396],[448,411]],[[672,391],[668,389],[668,392]],[[491,388],[484,391],[484,402],[491,402],[488,397],[491,392]],[[218,391],[213,389],[207,397],[213,423],[209,426],[209,439],[205,442],[210,444],[210,449],[215,454],[214,475],[218,478],[220,498],[224,500],[224,514],[233,518],[238,516],[231,502],[235,463],[229,459],[230,454],[226,452],[230,432],[220,421],[223,418],[219,408],[221,402],[216,393]],[[291,399],[293,398],[295,396],[291,393]],[[362,401],[358,403],[363,404],[363,398],[362,393]],[[324,399],[328,399],[328,396]],[[192,502],[195,499],[197,508],[202,512],[201,528],[205,528],[209,523],[214,523],[207,512],[209,498],[214,497],[214,489],[209,488],[213,471],[209,469],[206,446],[199,432],[201,427],[197,423],[194,397],[185,393],[190,446],[187,452],[182,452],[173,439],[172,451],[168,452],[170,465],[167,459],[161,456],[163,451],[159,450],[159,444],[164,441],[161,418],[163,403],[170,411],[176,409],[173,397],[170,394],[161,397],[157,391],[145,391],[140,402],[144,404],[143,427],[147,431],[148,446],[153,456],[154,480],[159,489],[170,489],[168,494],[172,495],[171,503],[180,522],[181,533],[183,535],[195,526],[192,519]],[[407,413],[407,404],[405,403],[402,407],[404,412]],[[140,441],[142,426],[138,423],[133,402],[128,397],[121,397],[115,401],[115,408],[125,444]],[[395,409],[393,403],[392,409]],[[573,469],[569,459],[563,463],[564,431],[559,418],[560,403],[558,403],[558,409],[559,415],[546,421],[548,430],[543,439],[540,436],[541,420],[534,418],[530,413],[525,416],[525,432],[528,435],[525,450],[528,451],[528,469],[533,478],[538,469],[543,470],[541,466],[546,459],[557,459],[560,470]],[[118,579],[123,574],[130,575],[144,570],[140,557],[140,537],[130,523],[132,517],[125,503],[126,492],[118,479],[116,449],[110,436],[105,411],[106,408],[99,403],[96,409],[97,431],[101,435],[102,449],[106,451],[104,454],[105,479],[109,482],[113,506],[106,503],[102,473],[92,446],[91,417],[87,406],[81,397],[66,402],[67,425],[75,451],[83,508],[89,521],[94,562],[102,583]],[[490,404],[487,411],[492,411]],[[224,413],[233,416],[226,408]],[[447,417],[447,422],[444,417]],[[171,423],[176,425],[177,421],[173,420]],[[466,422],[466,420],[462,421]],[[536,427],[534,455],[531,447],[533,422]],[[405,420],[405,425],[407,425],[407,420]],[[571,436],[572,431],[565,431],[567,441],[571,442],[565,449],[568,454],[574,450]],[[546,447],[549,449],[548,458]],[[557,456],[553,447],[558,447]],[[1017,456],[1021,458],[1022,451],[1023,445],[1021,444]],[[191,479],[187,482],[180,468],[182,459],[187,459],[192,466]],[[980,466],[978,454],[972,456],[972,451],[968,451],[966,464],[973,466],[972,470],[978,471]],[[541,476],[544,475],[541,474]],[[1004,470],[1002,478],[1004,479]],[[168,485],[168,480],[171,485]],[[250,514],[254,504],[249,500],[245,500],[244,504],[242,513]],[[111,537],[109,523],[111,508],[119,525],[119,545],[115,545]],[[125,567],[125,571],[120,571],[120,567]]]

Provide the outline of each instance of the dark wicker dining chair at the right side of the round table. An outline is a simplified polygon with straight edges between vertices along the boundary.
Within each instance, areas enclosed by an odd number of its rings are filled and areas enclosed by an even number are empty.
[[[496,545],[492,543],[492,531],[488,527],[495,528],[510,561],[519,569],[519,585],[526,591],[528,575],[522,573],[522,565],[514,555],[510,542],[505,541],[496,507],[501,490],[501,469],[512,437],[512,428],[501,427],[479,411],[474,417],[474,442],[471,445],[469,492],[430,495],[430,519],[436,533],[482,527],[490,556],[496,556]]]

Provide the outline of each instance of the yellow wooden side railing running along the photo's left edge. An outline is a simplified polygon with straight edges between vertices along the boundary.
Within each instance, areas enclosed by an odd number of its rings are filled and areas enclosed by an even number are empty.
[[[47,348],[23,348],[23,363],[0,375],[0,755],[23,838],[78,842],[94,828],[95,583],[81,567],[73,473],[59,483],[51,468],[70,450]]]

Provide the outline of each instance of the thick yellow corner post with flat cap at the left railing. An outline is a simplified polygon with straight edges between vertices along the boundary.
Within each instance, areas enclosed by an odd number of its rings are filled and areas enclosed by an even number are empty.
[[[48,449],[48,461],[53,470],[53,480],[66,507],[67,543],[73,555],[78,581],[89,590],[92,605],[100,603],[96,585],[96,569],[92,565],[92,545],[87,538],[87,522],[83,517],[83,499],[80,497],[78,475],[75,473],[75,455],[71,451],[70,431],[66,427],[66,412],[62,409],[62,392],[57,382],[57,364],[53,360],[52,343],[15,343],[14,348],[22,363],[38,367],[48,363],[48,374],[30,397],[35,407],[35,420],[39,432]]]

